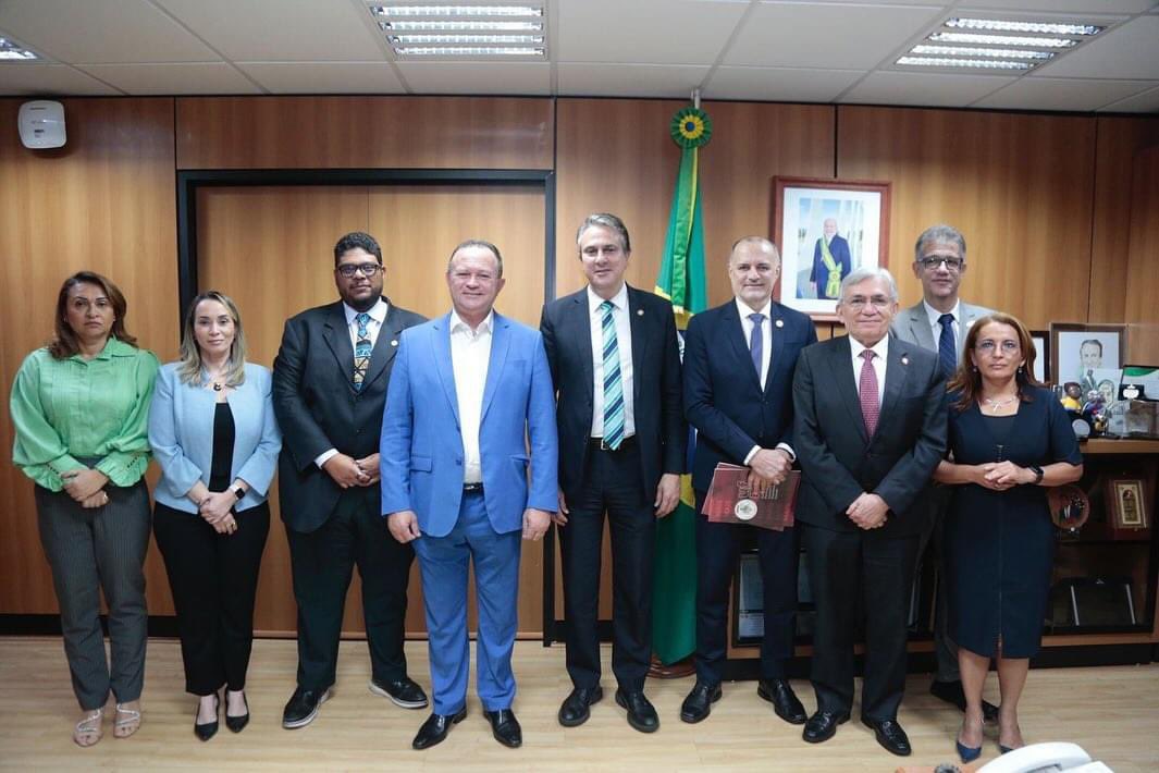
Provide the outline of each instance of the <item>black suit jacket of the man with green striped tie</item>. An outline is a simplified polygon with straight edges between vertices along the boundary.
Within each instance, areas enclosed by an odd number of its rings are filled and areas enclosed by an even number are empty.
[[[672,305],[628,287],[632,398],[641,481],[653,496],[663,473],[683,473],[688,431],[680,416],[680,349]],[[591,437],[595,396],[588,289],[544,306],[539,321],[559,404],[560,488],[578,501]]]

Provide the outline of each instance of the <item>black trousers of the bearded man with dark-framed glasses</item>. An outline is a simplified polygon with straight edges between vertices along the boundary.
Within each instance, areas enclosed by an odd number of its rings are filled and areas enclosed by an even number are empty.
[[[334,513],[316,531],[286,528],[298,601],[298,686],[305,690],[334,684],[355,564],[362,577],[371,673],[380,681],[407,674],[402,641],[415,552],[391,537],[386,519],[366,504],[366,490],[355,487],[342,493]]]

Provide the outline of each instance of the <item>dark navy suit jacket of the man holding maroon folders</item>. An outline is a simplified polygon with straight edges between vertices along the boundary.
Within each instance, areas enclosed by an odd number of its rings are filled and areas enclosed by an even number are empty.
[[[752,446],[793,440],[793,371],[817,341],[812,320],[773,302],[772,363],[764,388],[752,366],[736,300],[692,318],[684,344],[684,415],[697,428],[692,487],[707,491],[716,464],[743,465]]]

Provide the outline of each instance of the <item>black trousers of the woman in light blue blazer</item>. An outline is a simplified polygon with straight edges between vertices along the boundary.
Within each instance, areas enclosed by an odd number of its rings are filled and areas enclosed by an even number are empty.
[[[236,513],[238,531],[219,534],[197,513],[158,504],[153,533],[165,557],[181,634],[185,691],[209,695],[246,686],[254,643],[254,598],[270,506]]]

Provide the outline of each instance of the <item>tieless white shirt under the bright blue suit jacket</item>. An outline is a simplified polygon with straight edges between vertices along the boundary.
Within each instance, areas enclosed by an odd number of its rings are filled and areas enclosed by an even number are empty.
[[[494,311],[488,312],[487,318],[474,330],[458,313],[451,312],[451,367],[454,370],[454,395],[459,401],[459,426],[462,428],[464,483],[483,482],[479,426],[482,423],[483,389],[491,358],[494,324]]]

